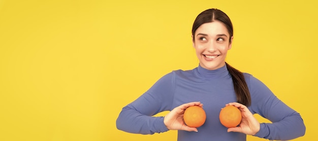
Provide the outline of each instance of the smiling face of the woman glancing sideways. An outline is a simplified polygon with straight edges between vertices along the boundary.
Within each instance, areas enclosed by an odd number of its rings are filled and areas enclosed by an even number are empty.
[[[196,30],[194,36],[193,46],[203,68],[214,70],[225,65],[233,37],[230,37],[224,23],[220,21],[204,23]]]

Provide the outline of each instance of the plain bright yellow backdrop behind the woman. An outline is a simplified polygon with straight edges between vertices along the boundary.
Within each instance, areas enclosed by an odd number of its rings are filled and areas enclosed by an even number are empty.
[[[198,66],[191,28],[209,8],[234,24],[227,61],[301,113],[295,140],[317,140],[318,11],[306,0],[0,0],[0,140],[176,140],[115,120],[163,75]]]

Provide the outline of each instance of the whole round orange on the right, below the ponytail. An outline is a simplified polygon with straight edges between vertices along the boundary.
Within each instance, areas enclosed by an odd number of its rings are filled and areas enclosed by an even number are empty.
[[[241,123],[241,111],[233,105],[227,105],[220,112],[219,119],[225,127],[236,127]]]

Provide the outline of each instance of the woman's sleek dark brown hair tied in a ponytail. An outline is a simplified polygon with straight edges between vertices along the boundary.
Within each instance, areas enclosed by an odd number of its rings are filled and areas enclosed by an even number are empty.
[[[231,43],[231,37],[233,36],[232,22],[227,14],[218,9],[208,9],[197,16],[192,27],[193,42],[195,42],[195,32],[202,24],[213,22],[216,20],[224,23],[224,25],[227,27],[230,34],[229,43]],[[251,98],[243,73],[229,65],[227,62],[226,66],[229,70],[230,75],[232,76],[237,102],[242,103],[246,105],[246,107],[248,107],[251,103]]]

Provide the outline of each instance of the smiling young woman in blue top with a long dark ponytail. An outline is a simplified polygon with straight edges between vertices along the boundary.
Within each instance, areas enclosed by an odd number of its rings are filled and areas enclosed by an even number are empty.
[[[224,12],[208,9],[200,13],[193,24],[192,37],[199,66],[165,75],[126,105],[116,121],[119,130],[140,134],[178,130],[178,140],[246,140],[246,134],[288,140],[305,134],[299,113],[280,101],[261,81],[225,62],[232,46],[233,26]],[[186,126],[182,118],[185,109],[192,105],[202,107],[202,103],[205,123],[198,128]],[[239,126],[221,125],[218,116],[225,105],[240,109]],[[165,117],[152,117],[163,111],[170,112]],[[272,123],[259,123],[253,114]]]

